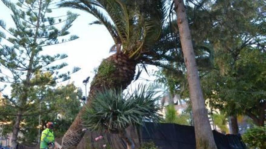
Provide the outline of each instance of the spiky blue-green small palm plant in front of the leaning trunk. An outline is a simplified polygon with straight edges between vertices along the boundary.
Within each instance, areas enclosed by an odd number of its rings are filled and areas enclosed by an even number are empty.
[[[127,143],[128,149],[135,148],[128,137],[128,126],[143,126],[145,121],[159,122],[161,106],[156,104],[159,97],[139,85],[132,93],[120,90],[98,92],[83,114],[83,123],[88,129],[118,133]]]

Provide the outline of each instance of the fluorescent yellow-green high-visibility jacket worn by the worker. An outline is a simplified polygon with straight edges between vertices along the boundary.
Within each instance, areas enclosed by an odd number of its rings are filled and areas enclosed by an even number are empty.
[[[49,147],[49,143],[54,143],[54,132],[47,128],[42,132],[40,148],[44,149]]]

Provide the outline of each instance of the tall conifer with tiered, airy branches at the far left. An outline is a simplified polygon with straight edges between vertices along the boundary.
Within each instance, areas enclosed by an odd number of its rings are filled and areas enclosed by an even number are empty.
[[[53,0],[19,0],[16,4],[7,0],[2,2],[12,11],[11,17],[15,23],[14,28],[7,29],[4,21],[0,20],[0,41],[7,43],[4,45],[0,42],[0,81],[5,86],[11,84],[12,88],[11,95],[4,97],[16,111],[11,139],[11,148],[15,148],[23,117],[26,113],[27,116],[39,113],[31,109],[33,101],[35,104],[38,102],[35,100],[38,95],[32,91],[39,86],[55,85],[70,79],[71,72],[59,72],[67,66],[66,63],[53,63],[66,58],[66,54],[51,56],[43,53],[45,46],[78,38],[68,32],[78,15],[67,12],[65,16],[51,17]],[[74,67],[72,73],[79,69]]]

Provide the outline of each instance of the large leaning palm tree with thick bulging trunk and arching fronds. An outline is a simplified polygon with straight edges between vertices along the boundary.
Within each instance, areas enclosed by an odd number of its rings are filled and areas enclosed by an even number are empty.
[[[103,24],[112,36],[115,54],[104,59],[95,75],[89,94],[89,102],[96,92],[105,88],[125,89],[135,76],[139,63],[151,64],[156,53],[154,45],[161,38],[165,21],[165,1],[136,0],[69,0],[60,7],[76,8],[88,12]],[[92,24],[93,24],[92,23]],[[84,135],[82,124],[83,108],[67,130],[62,140],[62,148],[76,146]]]

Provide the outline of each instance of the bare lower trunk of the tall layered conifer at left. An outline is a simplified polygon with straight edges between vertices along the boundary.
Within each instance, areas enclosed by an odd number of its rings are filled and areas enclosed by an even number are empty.
[[[15,149],[16,146],[18,145],[18,132],[19,132],[19,124],[21,122],[21,111],[18,111],[18,114],[17,114],[17,118],[16,118],[16,121],[15,121],[15,125],[14,125],[14,128],[13,128],[13,132],[12,132],[12,139],[11,139],[11,148]]]

